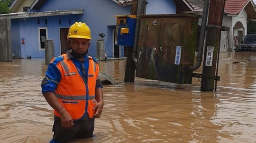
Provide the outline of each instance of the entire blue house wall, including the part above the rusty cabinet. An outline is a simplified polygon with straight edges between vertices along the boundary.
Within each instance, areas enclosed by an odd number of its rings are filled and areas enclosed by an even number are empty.
[[[174,14],[176,12],[175,3],[172,0],[148,0],[148,2],[150,4],[147,5],[147,14]],[[60,27],[70,27],[69,20],[71,20],[71,24],[75,21],[82,21],[90,27],[93,39],[89,55],[96,56],[96,39],[100,38],[99,33],[104,33],[105,52],[109,58],[113,57],[112,29],[116,25],[114,15],[129,14],[131,7],[118,6],[112,0],[76,0],[75,3],[70,3],[70,0],[47,0],[39,10],[32,12],[74,9],[84,9],[84,14],[39,17],[40,24],[37,23],[38,18],[14,21],[13,25],[18,25],[18,23],[20,25],[20,38],[25,38],[25,44],[20,44],[22,57],[44,57],[44,50],[39,50],[38,27],[47,27],[47,39],[54,40],[55,56],[60,55]],[[47,19],[47,25],[44,23],[45,19]],[[62,25],[59,25],[59,19],[61,19]],[[13,44],[16,44],[14,40]],[[120,50],[120,56],[123,57],[124,50],[122,48]]]

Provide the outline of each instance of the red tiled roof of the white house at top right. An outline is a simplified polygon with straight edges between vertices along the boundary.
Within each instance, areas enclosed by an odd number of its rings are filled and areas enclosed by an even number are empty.
[[[227,14],[239,14],[249,0],[226,0],[225,11]]]

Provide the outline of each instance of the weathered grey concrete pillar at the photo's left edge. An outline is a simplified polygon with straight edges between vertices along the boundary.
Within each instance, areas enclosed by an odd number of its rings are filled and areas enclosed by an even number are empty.
[[[11,20],[8,18],[0,20],[0,61],[13,61],[13,47],[11,42]]]

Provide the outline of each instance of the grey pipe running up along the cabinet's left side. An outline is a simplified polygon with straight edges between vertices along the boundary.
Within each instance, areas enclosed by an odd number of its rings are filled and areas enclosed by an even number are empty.
[[[146,14],[146,6],[147,6],[147,0],[138,0],[138,9],[137,9],[137,15],[140,14]],[[137,64],[137,47],[138,47],[138,37],[140,32],[140,20],[141,18],[137,16],[136,20],[136,28],[135,28],[135,36],[134,36],[134,45],[133,45],[133,63],[134,66]]]

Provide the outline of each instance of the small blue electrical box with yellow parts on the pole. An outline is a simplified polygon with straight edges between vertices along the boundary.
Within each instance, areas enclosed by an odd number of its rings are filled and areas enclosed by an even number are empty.
[[[136,15],[120,15],[117,17],[117,45],[133,46],[136,28]]]

